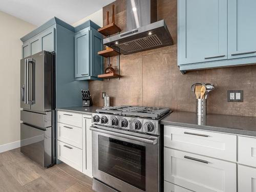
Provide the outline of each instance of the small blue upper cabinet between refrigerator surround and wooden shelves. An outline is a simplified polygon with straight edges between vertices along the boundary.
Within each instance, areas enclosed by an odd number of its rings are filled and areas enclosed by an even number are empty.
[[[103,37],[92,27],[75,34],[75,78],[76,80],[101,80],[103,59],[98,51],[103,48]]]

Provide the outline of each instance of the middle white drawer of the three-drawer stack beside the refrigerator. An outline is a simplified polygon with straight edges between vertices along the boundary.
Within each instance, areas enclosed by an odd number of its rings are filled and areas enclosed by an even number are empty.
[[[63,123],[57,123],[57,127],[59,141],[82,148],[82,128]]]

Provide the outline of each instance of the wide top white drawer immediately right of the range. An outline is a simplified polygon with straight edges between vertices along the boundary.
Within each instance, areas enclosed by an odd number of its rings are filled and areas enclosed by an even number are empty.
[[[228,161],[237,161],[237,136],[164,126],[164,146]]]

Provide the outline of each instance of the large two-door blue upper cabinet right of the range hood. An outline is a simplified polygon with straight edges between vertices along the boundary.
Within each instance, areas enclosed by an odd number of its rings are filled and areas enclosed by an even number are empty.
[[[180,71],[256,63],[255,7],[254,0],[178,0]]]

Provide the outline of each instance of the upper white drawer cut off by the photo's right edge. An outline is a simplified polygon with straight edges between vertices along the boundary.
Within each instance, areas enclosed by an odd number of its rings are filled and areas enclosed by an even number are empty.
[[[256,138],[238,137],[238,162],[256,167]]]

